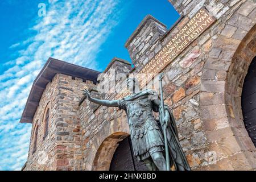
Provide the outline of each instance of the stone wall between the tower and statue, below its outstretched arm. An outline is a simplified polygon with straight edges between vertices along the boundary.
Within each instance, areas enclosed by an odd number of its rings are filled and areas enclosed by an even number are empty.
[[[115,71],[115,73],[126,75],[130,69],[131,65],[127,61],[114,58],[104,71],[109,77],[106,81],[117,82],[118,78],[111,72]],[[106,77],[106,75],[104,76]],[[102,76],[100,75],[98,80],[104,82]],[[94,85],[94,88],[93,85],[88,85],[88,88],[97,90],[101,86],[100,83],[100,85]],[[101,98],[112,100],[114,97],[114,94],[111,92],[113,88],[114,86],[109,88],[109,93],[104,94]],[[126,114],[124,111],[117,110],[114,107],[100,106],[95,110],[92,103],[88,100],[82,102],[80,112],[83,169],[108,170],[115,148],[118,146],[117,143],[129,135]]]

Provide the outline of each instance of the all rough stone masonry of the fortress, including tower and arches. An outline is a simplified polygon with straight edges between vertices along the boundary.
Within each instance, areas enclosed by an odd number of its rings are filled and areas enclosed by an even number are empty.
[[[170,0],[175,9],[187,16],[171,28],[147,16],[126,47],[135,65],[122,61],[110,63],[117,73],[137,73],[164,44],[205,7],[217,18],[207,31],[168,65],[163,73],[164,100],[171,107],[179,131],[179,140],[193,170],[256,169],[256,148],[243,124],[241,93],[243,80],[256,55],[253,1]],[[119,88],[123,79],[111,77]],[[102,84],[102,77],[98,80]],[[99,84],[99,85],[100,85]],[[46,104],[51,102],[51,129],[42,140],[39,126],[38,149],[32,154],[32,140],[25,169],[108,170],[118,142],[129,135],[124,111],[94,106],[84,101],[79,106],[84,86],[92,83],[56,75],[47,85],[36,111],[32,131],[42,123]],[[115,94],[101,94],[112,100]],[[156,114],[157,115],[157,114]],[[39,165],[38,151],[46,150],[49,162]]]

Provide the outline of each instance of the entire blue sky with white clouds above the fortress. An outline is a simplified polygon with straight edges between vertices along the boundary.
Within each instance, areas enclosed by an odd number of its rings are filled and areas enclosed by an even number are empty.
[[[48,57],[97,71],[113,57],[130,61],[124,44],[147,14],[168,28],[179,18],[168,0],[0,1],[0,170],[27,160],[31,124],[19,119]]]

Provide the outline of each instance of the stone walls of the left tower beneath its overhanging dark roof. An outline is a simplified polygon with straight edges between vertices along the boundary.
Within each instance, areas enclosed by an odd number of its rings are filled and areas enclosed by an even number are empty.
[[[88,81],[89,82],[89,81]],[[33,118],[32,134],[39,126],[36,152],[34,137],[25,170],[77,170],[81,169],[81,124],[78,113],[81,90],[86,85],[82,79],[57,74],[44,90]],[[43,116],[49,106],[49,133],[43,140]],[[37,121],[37,122],[36,122]],[[44,159],[47,159],[44,163]]]

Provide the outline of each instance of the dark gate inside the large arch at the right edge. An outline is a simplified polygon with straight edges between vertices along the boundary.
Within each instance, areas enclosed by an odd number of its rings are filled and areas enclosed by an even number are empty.
[[[245,128],[256,147],[256,57],[251,62],[243,83],[242,111]]]

